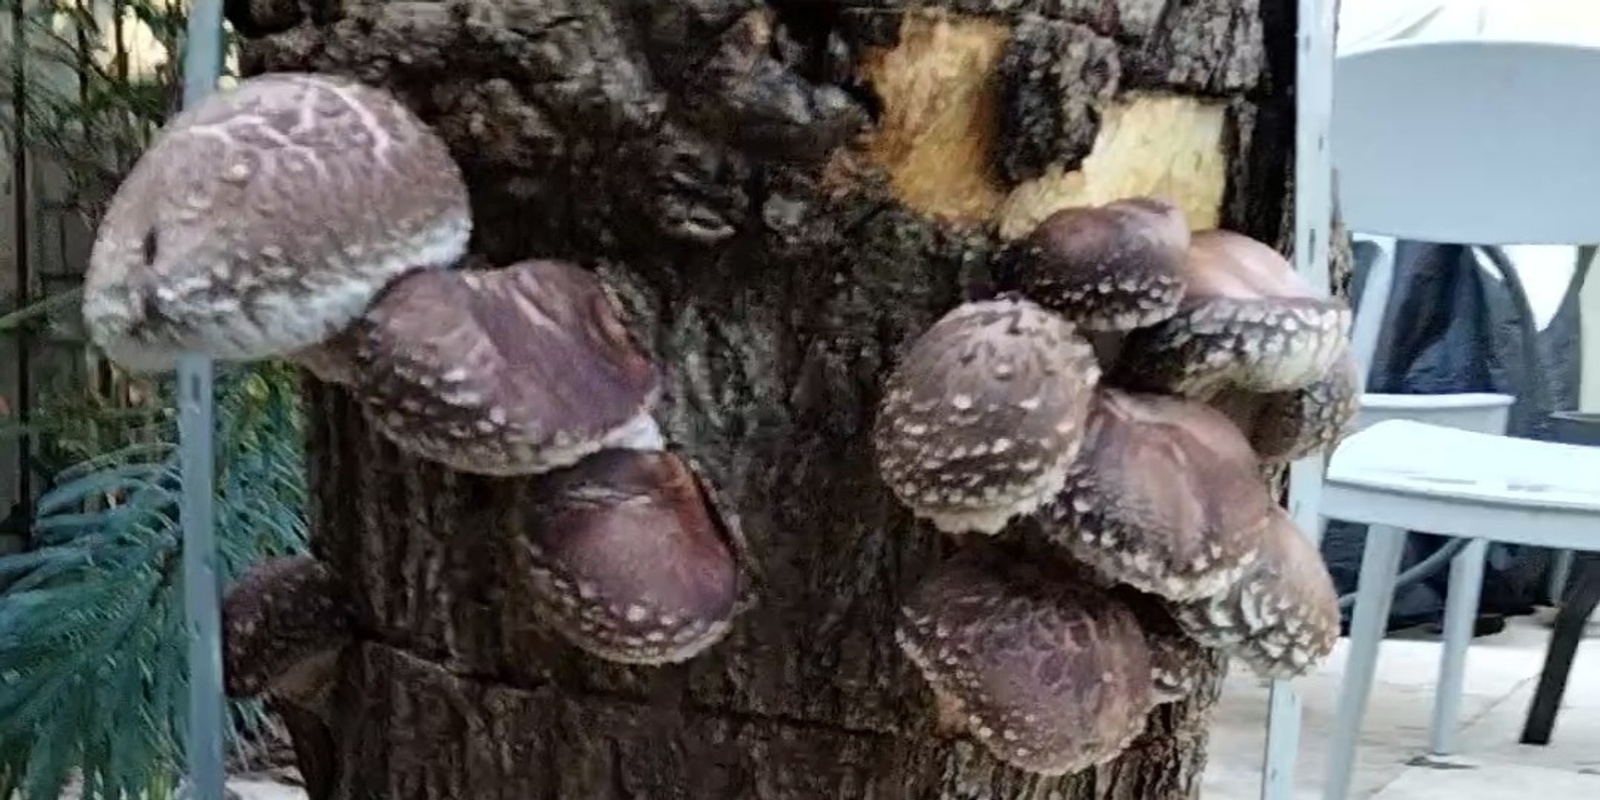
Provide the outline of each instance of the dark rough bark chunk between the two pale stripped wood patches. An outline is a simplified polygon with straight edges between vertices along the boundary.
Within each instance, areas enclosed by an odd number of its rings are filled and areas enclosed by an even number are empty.
[[[995,165],[1013,182],[1051,165],[1075,170],[1094,146],[1101,104],[1122,82],[1117,43],[1088,26],[1024,18],[1000,62]]]

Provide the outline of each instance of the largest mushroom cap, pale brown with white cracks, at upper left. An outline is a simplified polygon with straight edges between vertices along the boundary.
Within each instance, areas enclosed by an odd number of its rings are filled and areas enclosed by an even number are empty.
[[[269,74],[173,118],[123,179],[83,278],[91,339],[130,370],[288,355],[394,278],[467,250],[467,187],[392,94]]]

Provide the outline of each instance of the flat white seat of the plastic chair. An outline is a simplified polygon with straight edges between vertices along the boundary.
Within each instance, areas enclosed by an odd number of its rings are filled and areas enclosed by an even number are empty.
[[[1437,501],[1600,514],[1600,448],[1392,419],[1346,438],[1328,483]]]

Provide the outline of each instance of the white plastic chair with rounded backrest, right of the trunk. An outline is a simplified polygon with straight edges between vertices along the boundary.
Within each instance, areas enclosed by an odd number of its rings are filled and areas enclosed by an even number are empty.
[[[1600,50],[1576,45],[1435,40],[1342,54],[1331,141],[1346,222],[1424,242],[1600,242],[1595,78]],[[1363,408],[1368,427],[1333,453],[1318,504],[1326,518],[1370,525],[1325,800],[1349,794],[1406,530],[1472,539],[1450,570],[1438,755],[1456,731],[1488,544],[1600,549],[1594,448],[1378,414]]]

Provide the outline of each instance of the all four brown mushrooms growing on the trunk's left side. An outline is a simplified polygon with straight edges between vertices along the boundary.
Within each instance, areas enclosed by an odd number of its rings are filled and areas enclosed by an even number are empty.
[[[470,232],[459,166],[398,98],[267,74],[174,117],[139,158],[98,230],[83,318],[128,370],[288,358],[411,456],[534,478],[538,510],[507,536],[541,619],[618,662],[699,654],[744,608],[747,560],[653,418],[658,366],[594,270],[466,269]],[[341,650],[354,629],[323,613],[349,608],[338,586],[309,558],[240,582],[229,690]]]

